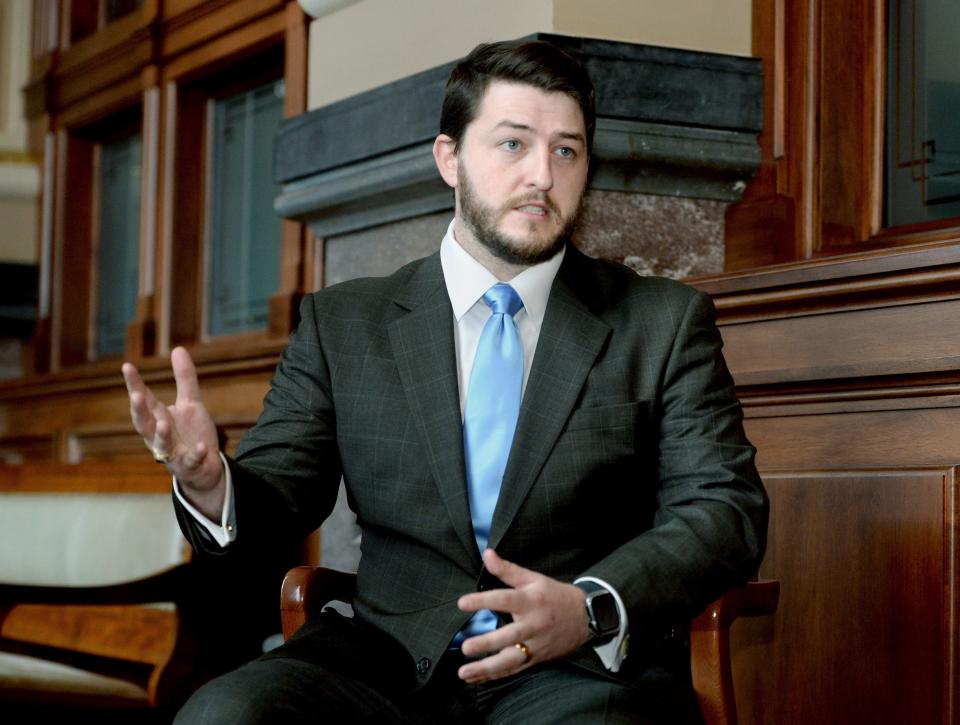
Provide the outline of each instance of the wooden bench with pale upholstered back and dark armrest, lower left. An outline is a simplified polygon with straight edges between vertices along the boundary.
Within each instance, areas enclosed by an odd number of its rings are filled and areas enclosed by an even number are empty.
[[[186,698],[189,547],[170,495],[153,462],[0,466],[0,712]]]

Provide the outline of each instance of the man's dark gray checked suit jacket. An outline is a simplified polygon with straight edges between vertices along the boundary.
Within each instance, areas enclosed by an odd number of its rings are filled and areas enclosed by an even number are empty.
[[[439,254],[316,293],[301,316],[231,462],[230,555],[315,529],[342,474],[363,529],[357,616],[412,662],[436,662],[468,618],[456,600],[482,568]],[[568,248],[490,545],[563,581],[609,582],[629,610],[632,658],[763,554],[767,500],[720,348],[706,295]],[[573,659],[602,671],[590,647]]]

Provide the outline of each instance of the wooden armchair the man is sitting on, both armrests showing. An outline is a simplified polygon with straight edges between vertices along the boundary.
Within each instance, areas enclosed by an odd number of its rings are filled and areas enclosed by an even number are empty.
[[[350,603],[356,577],[333,569],[299,566],[283,580],[280,614],[289,638],[331,601]],[[693,686],[707,725],[736,725],[737,706],[730,664],[730,625],[738,617],[773,614],[780,582],[751,581],[732,589],[698,616],[690,628]]]

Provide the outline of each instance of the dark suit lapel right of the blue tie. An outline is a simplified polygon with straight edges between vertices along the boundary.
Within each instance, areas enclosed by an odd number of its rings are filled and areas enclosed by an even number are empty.
[[[610,334],[609,325],[588,307],[602,299],[589,265],[581,252],[568,247],[550,290],[517,432],[493,515],[491,547],[497,546],[519,511]]]

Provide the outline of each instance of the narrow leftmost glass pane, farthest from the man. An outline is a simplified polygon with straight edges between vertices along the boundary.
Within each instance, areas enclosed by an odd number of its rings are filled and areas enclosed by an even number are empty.
[[[137,312],[140,249],[140,136],[104,143],[100,152],[100,236],[96,240],[97,357],[124,350]]]

